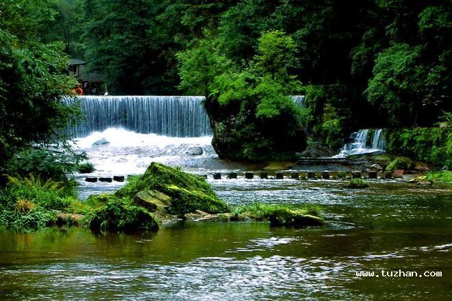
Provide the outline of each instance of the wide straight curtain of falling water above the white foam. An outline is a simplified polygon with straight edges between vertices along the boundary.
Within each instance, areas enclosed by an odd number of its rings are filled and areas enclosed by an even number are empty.
[[[84,120],[69,127],[75,138],[93,131],[122,127],[136,133],[169,137],[212,135],[203,96],[79,96],[64,102],[81,104]]]

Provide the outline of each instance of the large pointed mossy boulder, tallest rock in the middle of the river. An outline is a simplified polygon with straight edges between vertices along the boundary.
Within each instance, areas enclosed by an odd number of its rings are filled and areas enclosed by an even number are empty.
[[[158,196],[157,192],[160,193]],[[146,196],[148,200],[152,199],[151,202],[161,202],[168,213],[179,217],[197,210],[207,213],[229,212],[227,204],[216,196],[201,176],[155,162],[151,163],[145,174],[131,179],[119,189],[115,196],[134,200],[141,206],[145,206],[143,196]]]

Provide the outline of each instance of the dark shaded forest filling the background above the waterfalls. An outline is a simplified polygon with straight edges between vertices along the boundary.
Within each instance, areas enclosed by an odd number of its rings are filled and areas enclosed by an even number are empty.
[[[23,68],[33,65],[23,64],[27,58],[53,64],[17,75],[34,74],[25,81],[31,86],[17,91],[51,83],[38,90],[42,99],[74,84],[64,78],[55,83],[55,70],[67,57],[86,60],[112,94],[203,94],[216,137],[225,133],[225,122],[234,128],[226,120],[232,116],[236,123],[238,117],[260,120],[240,130],[250,139],[288,117],[293,126],[278,130],[295,138],[294,109],[276,96],[305,94],[302,126],[314,140],[338,148],[359,128],[450,122],[451,7],[445,0],[10,0],[0,5],[2,64],[14,56],[8,51],[18,55],[12,64]],[[250,105],[253,98],[262,103]],[[33,108],[25,115],[36,116]],[[3,105],[3,115],[11,109]],[[45,140],[60,122],[52,117],[67,116],[62,110],[58,103],[40,108],[41,119],[50,122],[33,135],[28,128],[10,129],[10,135],[26,138],[18,145]],[[19,119],[26,120],[22,113]],[[265,153],[275,145],[250,142],[250,152],[260,148]]]

